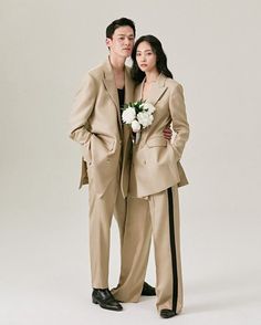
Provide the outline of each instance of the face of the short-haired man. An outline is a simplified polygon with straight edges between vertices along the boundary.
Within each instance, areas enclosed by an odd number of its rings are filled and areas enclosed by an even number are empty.
[[[127,59],[133,51],[134,31],[129,25],[117,28],[112,39],[106,39],[106,45],[111,50],[111,54]]]

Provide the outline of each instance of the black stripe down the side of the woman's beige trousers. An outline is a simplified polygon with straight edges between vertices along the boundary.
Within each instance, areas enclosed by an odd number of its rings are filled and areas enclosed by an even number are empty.
[[[174,226],[174,200],[173,200],[171,188],[168,188],[168,218],[169,218],[169,238],[170,238],[170,251],[171,251],[171,262],[173,262],[173,311],[177,312],[178,270],[177,270],[175,226]]]

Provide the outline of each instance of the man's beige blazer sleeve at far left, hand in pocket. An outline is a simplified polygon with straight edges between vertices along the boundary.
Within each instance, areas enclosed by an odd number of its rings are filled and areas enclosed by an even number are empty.
[[[95,80],[87,74],[77,91],[70,116],[70,137],[84,145],[91,138],[88,118],[94,109],[97,96]]]

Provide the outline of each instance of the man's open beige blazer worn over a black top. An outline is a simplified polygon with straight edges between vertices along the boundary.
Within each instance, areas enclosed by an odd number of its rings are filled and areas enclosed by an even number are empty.
[[[133,93],[129,67],[125,66],[126,103],[132,102]],[[122,125],[109,59],[84,77],[71,113],[70,137],[82,145],[80,188],[92,179],[96,193],[102,196],[117,176],[122,165],[122,141],[129,137],[129,129]],[[122,190],[127,191],[124,177]]]

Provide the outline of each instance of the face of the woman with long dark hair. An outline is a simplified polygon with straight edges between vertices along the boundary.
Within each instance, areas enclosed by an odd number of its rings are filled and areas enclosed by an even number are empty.
[[[144,41],[138,44],[136,51],[136,61],[138,67],[145,73],[157,70],[157,56],[153,52],[153,49],[148,42]]]

